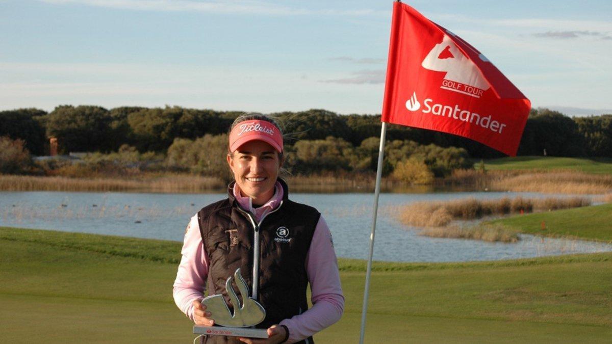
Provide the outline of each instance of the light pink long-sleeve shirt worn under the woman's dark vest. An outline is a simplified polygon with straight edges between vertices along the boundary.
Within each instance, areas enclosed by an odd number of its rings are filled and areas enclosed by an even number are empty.
[[[275,186],[274,196],[258,208],[253,208],[251,198],[241,195],[236,184],[234,184],[233,193],[241,208],[252,212],[257,221],[280,206],[283,199],[283,188],[278,182]],[[174,302],[185,315],[193,320],[192,302],[203,297],[209,266],[200,235],[198,214],[192,217],[187,226],[181,254],[181,263],[174,281]],[[344,310],[344,296],[340,286],[338,261],[334,251],[332,234],[323,216],[319,218],[315,233],[313,233],[305,267],[308,282],[310,282],[313,306],[300,315],[280,322],[281,325],[285,325],[289,329],[287,343],[299,342],[334,324],[340,320]]]

